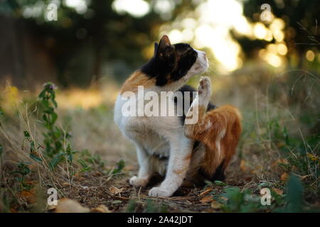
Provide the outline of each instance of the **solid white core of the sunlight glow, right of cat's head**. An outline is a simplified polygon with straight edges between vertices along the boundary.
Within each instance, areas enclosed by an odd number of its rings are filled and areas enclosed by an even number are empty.
[[[194,29],[195,47],[209,48],[223,70],[238,69],[242,65],[238,56],[240,45],[228,31],[235,28],[238,33],[250,33],[250,26],[242,16],[242,5],[235,0],[208,0],[198,6],[196,16],[198,21],[186,18],[182,22],[184,27]]]

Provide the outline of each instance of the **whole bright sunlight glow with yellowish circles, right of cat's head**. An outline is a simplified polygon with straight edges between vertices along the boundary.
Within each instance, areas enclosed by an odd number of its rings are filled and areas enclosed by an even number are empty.
[[[191,43],[194,48],[207,48],[220,63],[221,73],[237,70],[242,65],[241,47],[230,35],[230,30],[250,39],[271,42],[260,50],[259,56],[268,64],[280,67],[287,55],[284,43],[285,23],[273,15],[268,23],[250,23],[243,16],[243,6],[237,0],[207,0],[201,2],[186,18],[177,18],[160,28],[160,36],[168,34],[171,43]],[[310,53],[309,53],[310,55]],[[309,57],[311,59],[311,57]]]

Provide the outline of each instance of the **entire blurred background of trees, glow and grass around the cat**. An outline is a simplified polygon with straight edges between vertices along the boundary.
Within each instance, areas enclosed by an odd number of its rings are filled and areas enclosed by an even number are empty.
[[[104,180],[119,160],[128,167],[125,180],[137,172],[134,145],[114,125],[113,105],[121,84],[153,55],[154,42],[164,34],[171,43],[206,51],[213,103],[233,104],[242,112],[242,137],[227,174],[238,193],[230,198],[240,199],[221,201],[227,203],[224,211],[265,211],[241,199],[245,189],[259,196],[262,187],[280,196],[267,211],[319,211],[319,23],[320,2],[310,0],[0,0],[0,179],[6,182],[0,181],[0,211],[1,197],[6,207],[24,204],[14,211],[32,207],[14,190],[10,171],[34,162],[21,149],[23,131],[42,144],[37,96],[48,81],[58,86],[56,124],[70,131],[73,148],[99,155],[92,170],[102,177],[92,172],[82,177]],[[188,83],[197,87],[198,79]],[[60,167],[55,178],[50,171],[31,178],[41,176],[36,181],[43,190],[52,180],[64,196],[75,198],[73,190],[80,187],[66,179],[68,167]],[[290,183],[289,176],[296,178]],[[102,182],[95,186],[106,193],[110,182]],[[137,195],[127,183],[116,186]],[[201,199],[198,191],[192,193]],[[102,197],[114,211],[125,206]],[[100,201],[95,194],[83,198],[78,196],[87,206]],[[204,209],[191,205],[186,209]]]

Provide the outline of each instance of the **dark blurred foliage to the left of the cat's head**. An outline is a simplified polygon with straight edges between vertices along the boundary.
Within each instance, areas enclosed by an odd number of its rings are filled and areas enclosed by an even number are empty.
[[[25,30],[52,57],[58,82],[63,86],[90,84],[110,70],[117,75],[114,79],[127,77],[145,61],[142,50],[153,46],[159,35],[157,29],[164,23],[153,10],[139,18],[129,13],[120,15],[112,9],[114,0],[87,1],[85,13],[78,13],[59,1],[58,21],[46,21],[45,10],[35,18],[23,16],[26,7],[37,4],[44,7],[51,2],[54,1],[4,0],[0,4],[0,16],[23,21]],[[183,1],[183,6],[178,5],[171,13],[171,19],[192,6],[191,1]],[[107,69],[102,63],[107,63]]]

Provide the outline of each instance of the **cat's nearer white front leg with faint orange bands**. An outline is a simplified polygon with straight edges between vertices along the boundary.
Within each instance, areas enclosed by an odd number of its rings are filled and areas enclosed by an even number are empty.
[[[193,140],[186,138],[183,133],[171,135],[170,157],[166,178],[159,187],[153,187],[149,196],[169,197],[181,186],[191,160]]]

